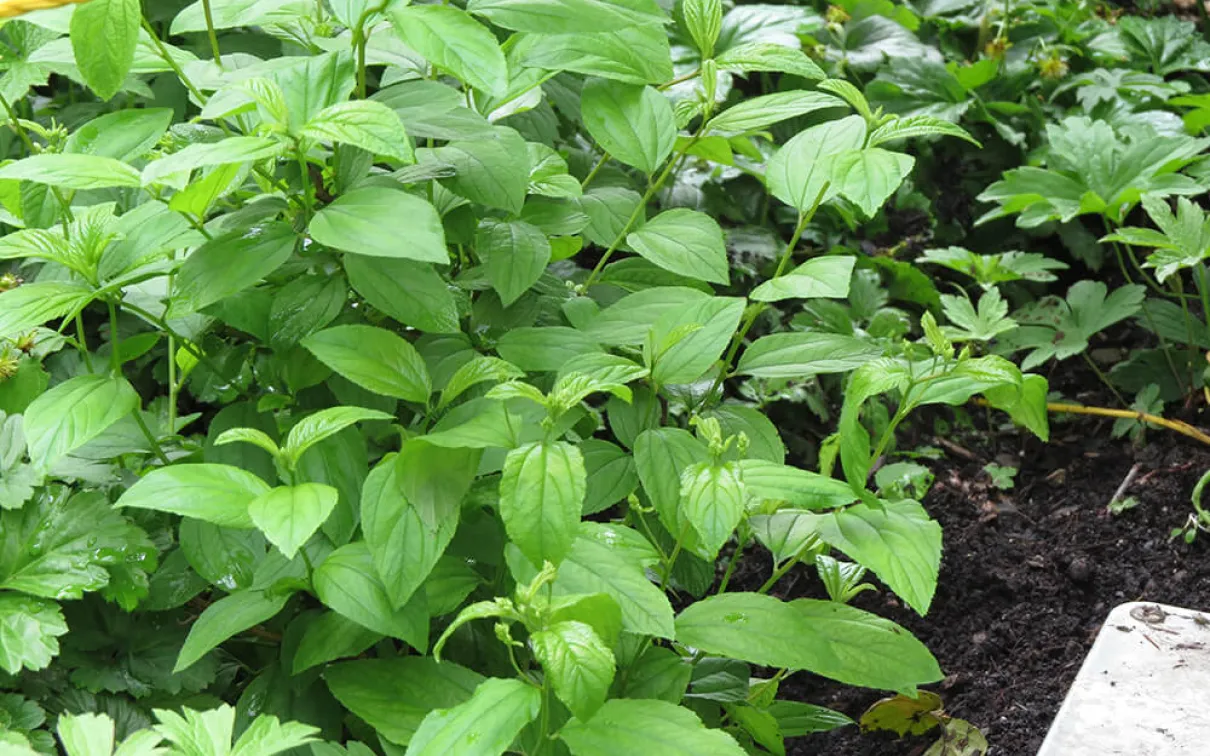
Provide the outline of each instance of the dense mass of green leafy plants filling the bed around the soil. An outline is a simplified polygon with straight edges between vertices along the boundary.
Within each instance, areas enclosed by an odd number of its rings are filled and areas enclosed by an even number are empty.
[[[0,15],[13,754],[786,754],[857,729],[820,679],[983,752],[865,608],[938,589],[918,438],[1200,434],[1164,416],[1210,348],[1188,22]]]

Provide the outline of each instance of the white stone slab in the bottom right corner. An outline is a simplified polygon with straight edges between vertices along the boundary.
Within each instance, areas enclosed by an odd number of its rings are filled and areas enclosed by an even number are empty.
[[[1084,659],[1038,756],[1210,754],[1210,613],[1123,604]]]

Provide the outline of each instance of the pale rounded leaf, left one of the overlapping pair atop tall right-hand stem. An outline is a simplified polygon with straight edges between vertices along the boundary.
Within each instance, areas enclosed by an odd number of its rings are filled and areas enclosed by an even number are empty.
[[[823,203],[840,194],[832,185],[831,156],[864,142],[865,119],[855,115],[799,132],[770,158],[768,191],[800,213],[809,212],[817,200]]]

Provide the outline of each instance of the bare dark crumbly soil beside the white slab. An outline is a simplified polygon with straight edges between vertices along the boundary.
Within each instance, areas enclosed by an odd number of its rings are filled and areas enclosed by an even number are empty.
[[[1020,463],[1009,491],[991,487],[983,472],[996,456],[991,450],[960,450],[932,463],[937,483],[924,504],[944,527],[945,555],[928,616],[887,590],[854,604],[928,645],[947,675],[929,689],[949,714],[986,734],[989,754],[1032,756],[1114,605],[1210,607],[1210,535],[1192,546],[1169,538],[1192,512],[1189,492],[1210,468],[1210,449],[1166,431],[1148,431],[1136,449],[1111,440],[1110,422],[1095,420],[1056,423],[1049,445],[1027,443],[1020,451],[1019,438],[1008,443]],[[1111,515],[1106,504],[1134,464],[1128,494],[1139,506]],[[806,573],[791,579],[783,598],[822,595]],[[883,696],[800,674],[783,683],[780,697],[855,720]],[[932,740],[848,727],[788,746],[797,755],[917,756]]]

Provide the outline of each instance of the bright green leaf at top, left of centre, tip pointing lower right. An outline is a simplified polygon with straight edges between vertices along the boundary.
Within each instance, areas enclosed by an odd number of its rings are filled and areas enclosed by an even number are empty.
[[[508,63],[486,27],[465,11],[444,5],[411,5],[388,11],[396,34],[439,69],[488,94],[508,93]]]

